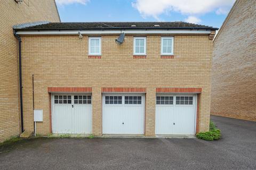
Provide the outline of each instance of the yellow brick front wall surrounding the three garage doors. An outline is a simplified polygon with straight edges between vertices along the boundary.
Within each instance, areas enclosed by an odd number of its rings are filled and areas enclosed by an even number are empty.
[[[199,131],[209,130],[212,40],[208,35],[175,35],[174,58],[161,59],[161,35],[147,36],[147,58],[133,58],[133,36],[122,45],[118,35],[102,35],[102,56],[88,58],[88,36],[22,36],[25,129],[33,130],[32,74],[35,109],[43,109],[37,132],[50,132],[47,87],[92,87],[93,133],[101,135],[101,88],[147,88],[148,136],[155,135],[156,87],[202,88]]]

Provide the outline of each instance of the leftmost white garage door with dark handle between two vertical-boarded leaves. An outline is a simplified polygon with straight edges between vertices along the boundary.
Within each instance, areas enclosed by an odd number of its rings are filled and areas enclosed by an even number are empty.
[[[92,133],[91,95],[52,95],[52,133]]]

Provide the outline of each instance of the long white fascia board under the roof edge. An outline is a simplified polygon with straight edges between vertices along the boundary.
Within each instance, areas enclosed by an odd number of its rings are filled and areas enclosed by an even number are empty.
[[[53,31],[17,31],[18,35],[77,35],[81,32],[84,35],[110,35],[120,34],[121,30],[53,30]],[[211,30],[190,30],[190,29],[177,29],[177,30],[122,30],[125,34],[209,34]]]

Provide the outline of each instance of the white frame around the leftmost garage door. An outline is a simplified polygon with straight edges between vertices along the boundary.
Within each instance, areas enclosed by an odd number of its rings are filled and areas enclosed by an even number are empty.
[[[91,96],[91,104],[86,104],[91,106],[91,127],[89,133],[72,133],[72,134],[91,134],[92,133],[92,92],[51,92],[51,133],[53,133],[53,114],[54,114],[54,96],[55,95],[63,95],[63,96],[71,96],[71,104],[70,105],[76,105],[74,104],[74,96]],[[69,133],[55,133],[55,134],[69,134]]]

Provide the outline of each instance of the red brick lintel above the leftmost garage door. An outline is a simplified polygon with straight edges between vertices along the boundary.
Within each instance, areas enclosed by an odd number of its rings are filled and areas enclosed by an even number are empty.
[[[48,92],[92,92],[91,87],[49,87]]]

